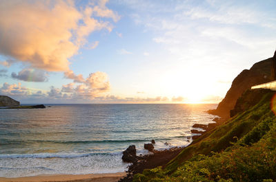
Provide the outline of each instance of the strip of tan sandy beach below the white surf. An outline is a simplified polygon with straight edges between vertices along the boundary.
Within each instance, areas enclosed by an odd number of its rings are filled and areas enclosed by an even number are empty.
[[[115,182],[126,176],[126,172],[107,174],[57,174],[39,175],[34,177],[3,178],[1,182],[42,182],[42,181],[63,181],[63,182]]]

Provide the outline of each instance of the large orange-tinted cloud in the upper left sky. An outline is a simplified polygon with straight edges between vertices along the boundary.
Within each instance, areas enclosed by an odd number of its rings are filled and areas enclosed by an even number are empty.
[[[46,71],[68,71],[68,58],[78,53],[86,36],[112,30],[106,19],[119,16],[106,1],[78,10],[72,1],[0,2],[0,54]],[[1,62],[8,65],[8,61]]]

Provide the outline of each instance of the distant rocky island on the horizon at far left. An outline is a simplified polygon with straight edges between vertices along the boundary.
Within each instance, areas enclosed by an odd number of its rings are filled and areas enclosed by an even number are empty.
[[[20,102],[6,95],[0,95],[0,109],[43,109],[46,108],[43,104],[34,106],[21,106]]]

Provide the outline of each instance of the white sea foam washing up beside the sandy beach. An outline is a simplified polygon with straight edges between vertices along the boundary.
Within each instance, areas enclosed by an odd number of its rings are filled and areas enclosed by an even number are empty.
[[[20,155],[18,155],[20,156]],[[55,155],[53,155],[55,156]],[[71,155],[72,156],[72,155]],[[6,157],[0,158],[0,177],[28,177],[40,174],[91,174],[124,172],[128,163],[121,155],[86,157]]]

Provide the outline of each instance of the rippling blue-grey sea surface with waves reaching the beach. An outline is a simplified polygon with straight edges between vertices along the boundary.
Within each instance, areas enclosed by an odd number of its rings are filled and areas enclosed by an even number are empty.
[[[187,146],[217,104],[50,104],[0,109],[0,177],[124,172],[122,152]],[[168,142],[169,145],[164,143]]]

